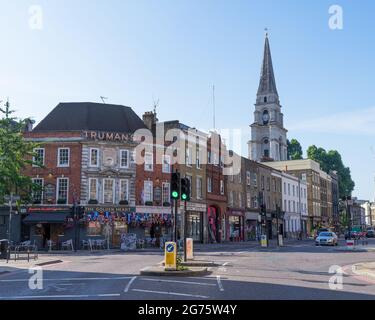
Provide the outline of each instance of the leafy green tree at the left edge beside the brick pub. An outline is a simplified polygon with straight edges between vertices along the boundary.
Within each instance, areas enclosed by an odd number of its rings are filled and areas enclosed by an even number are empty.
[[[9,102],[5,109],[0,108],[0,203],[4,203],[4,196],[19,194],[23,201],[29,201],[33,191],[40,187],[32,179],[23,174],[26,166],[41,164],[29,160],[33,159],[36,143],[26,141],[23,131],[30,119],[17,119],[12,117],[14,111],[10,110]]]

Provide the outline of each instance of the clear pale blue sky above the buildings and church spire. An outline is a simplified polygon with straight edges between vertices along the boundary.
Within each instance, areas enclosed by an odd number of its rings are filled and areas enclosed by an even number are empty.
[[[331,5],[343,30],[328,27]],[[43,27],[29,26],[39,5]],[[0,0],[0,100],[40,121],[60,101],[124,104],[160,120],[241,128],[246,155],[264,28],[288,137],[337,149],[375,194],[375,3],[325,0]],[[72,116],[72,115],[67,115]]]

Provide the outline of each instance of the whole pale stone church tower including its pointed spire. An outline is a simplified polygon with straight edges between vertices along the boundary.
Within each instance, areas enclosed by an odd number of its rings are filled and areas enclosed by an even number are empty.
[[[250,125],[251,140],[248,146],[251,160],[258,162],[287,160],[287,130],[284,128],[283,117],[266,33],[254,123]]]

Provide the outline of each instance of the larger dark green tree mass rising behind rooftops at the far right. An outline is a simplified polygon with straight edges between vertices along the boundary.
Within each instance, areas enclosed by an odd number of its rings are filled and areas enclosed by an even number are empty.
[[[341,155],[337,150],[326,152],[323,148],[315,145],[307,149],[307,157],[319,162],[323,171],[329,173],[331,170],[336,171],[339,177],[339,194],[340,197],[350,196],[354,190],[355,183],[352,180],[350,168],[345,167]]]

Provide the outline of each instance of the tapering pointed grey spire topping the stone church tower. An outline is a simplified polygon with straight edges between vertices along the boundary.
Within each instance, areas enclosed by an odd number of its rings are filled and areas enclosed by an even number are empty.
[[[266,29],[266,37],[264,43],[264,56],[263,56],[263,64],[262,64],[262,71],[260,75],[260,82],[258,88],[258,100],[262,99],[262,97],[266,97],[268,95],[275,95],[276,99],[279,99],[279,95],[277,93],[276,88],[276,81],[275,75],[273,73],[273,66],[272,66],[272,58],[271,58],[271,49],[270,43],[268,41],[268,31]],[[263,101],[263,99],[262,99]]]

